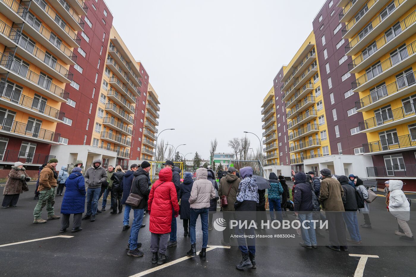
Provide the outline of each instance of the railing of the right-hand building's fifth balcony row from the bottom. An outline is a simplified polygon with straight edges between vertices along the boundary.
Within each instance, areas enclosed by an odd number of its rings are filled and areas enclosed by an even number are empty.
[[[403,59],[406,59],[409,56],[415,54],[415,52],[416,41],[412,42],[410,45],[407,45],[406,48],[397,52],[396,54],[384,60],[380,64],[377,64],[375,67],[373,65],[373,67],[370,70],[368,70],[362,76],[358,77],[357,80],[352,83],[352,88],[357,89],[357,87],[365,84],[369,80],[385,72],[387,69],[390,69],[394,65],[399,64]]]

